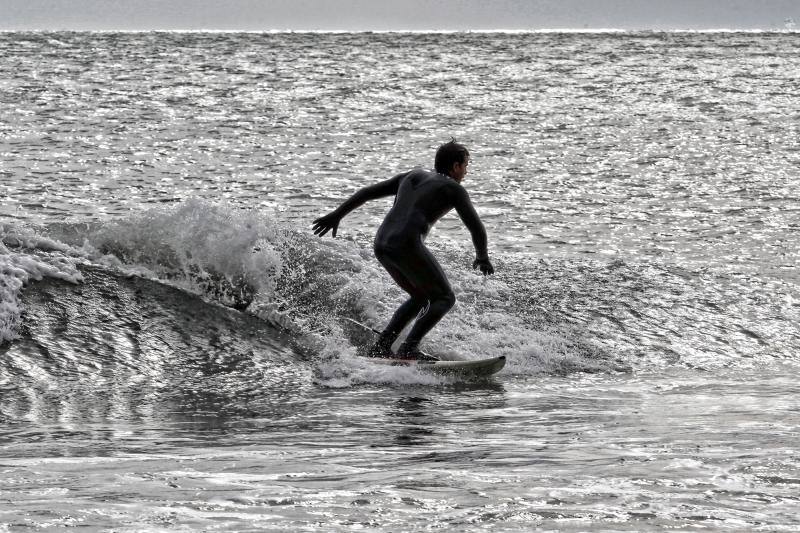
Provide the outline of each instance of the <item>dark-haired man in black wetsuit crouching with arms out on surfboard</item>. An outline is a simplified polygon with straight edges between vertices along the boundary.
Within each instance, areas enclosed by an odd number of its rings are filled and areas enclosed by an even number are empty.
[[[395,311],[389,324],[368,352],[372,357],[426,359],[419,350],[422,338],[453,307],[456,298],[442,267],[425,247],[431,226],[452,208],[472,234],[475,261],[483,275],[493,274],[486,249],[486,230],[461,181],[467,175],[469,151],[455,139],[436,151],[435,172],[417,168],[364,187],[336,210],[316,219],[315,235],[331,231],[336,237],[339,222],[368,200],[394,195],[394,205],[375,235],[375,257],[410,298]],[[414,318],[417,320],[396,354],[392,344]]]

